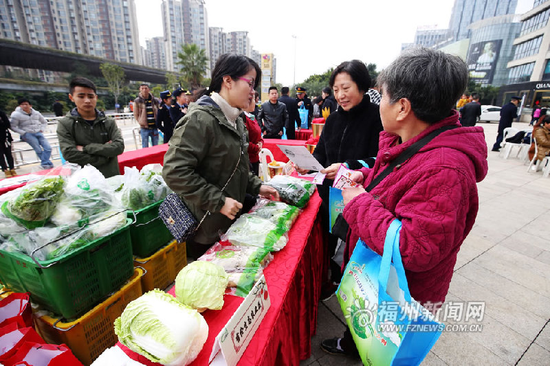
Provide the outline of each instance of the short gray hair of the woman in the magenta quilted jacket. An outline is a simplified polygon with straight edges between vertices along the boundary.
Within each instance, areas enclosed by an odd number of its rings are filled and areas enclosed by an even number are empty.
[[[406,98],[418,119],[433,124],[449,116],[466,89],[467,79],[467,65],[461,58],[415,47],[386,67],[377,83],[392,104]]]

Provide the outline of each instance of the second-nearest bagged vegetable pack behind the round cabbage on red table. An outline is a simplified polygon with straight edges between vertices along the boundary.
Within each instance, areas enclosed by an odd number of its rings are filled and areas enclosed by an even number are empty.
[[[269,251],[280,251],[288,242],[285,227],[254,214],[243,214],[237,218],[221,240],[241,247],[259,247]]]

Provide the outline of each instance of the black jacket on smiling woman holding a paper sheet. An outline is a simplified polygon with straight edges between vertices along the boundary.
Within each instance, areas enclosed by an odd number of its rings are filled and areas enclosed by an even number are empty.
[[[350,169],[363,168],[364,163],[372,167],[383,129],[380,107],[371,103],[369,95],[364,95],[360,104],[349,111],[338,107],[329,115],[313,155],[325,168],[333,163],[347,163]],[[323,189],[319,190],[323,200],[324,191],[328,192],[332,183],[325,179]]]

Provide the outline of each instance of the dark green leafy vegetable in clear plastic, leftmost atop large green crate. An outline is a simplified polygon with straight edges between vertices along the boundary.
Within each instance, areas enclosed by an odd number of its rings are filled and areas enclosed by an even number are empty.
[[[44,226],[63,194],[63,178],[47,176],[25,186],[17,198],[5,201],[2,212],[28,229]]]

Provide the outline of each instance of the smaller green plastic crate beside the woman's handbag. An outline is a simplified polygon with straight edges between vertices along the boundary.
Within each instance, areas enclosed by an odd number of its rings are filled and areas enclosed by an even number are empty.
[[[173,236],[159,217],[158,201],[135,211],[135,223],[130,227],[132,251],[140,258],[146,258],[160,247],[173,240]],[[128,217],[133,218],[133,212],[128,211]]]

